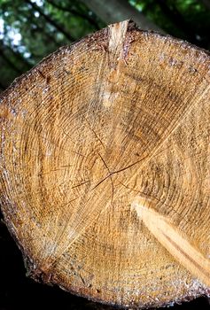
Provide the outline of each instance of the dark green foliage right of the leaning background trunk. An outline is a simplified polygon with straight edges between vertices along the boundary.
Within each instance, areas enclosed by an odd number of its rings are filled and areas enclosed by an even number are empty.
[[[210,50],[209,0],[129,0],[129,3],[168,34]]]

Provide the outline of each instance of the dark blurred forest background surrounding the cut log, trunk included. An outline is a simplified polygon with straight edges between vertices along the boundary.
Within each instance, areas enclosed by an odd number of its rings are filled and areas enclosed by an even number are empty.
[[[210,50],[210,0],[0,0],[0,92],[58,47],[129,18]],[[113,309],[27,278],[21,253],[1,221],[0,310],[43,308]],[[203,297],[175,309],[206,310],[210,304]]]

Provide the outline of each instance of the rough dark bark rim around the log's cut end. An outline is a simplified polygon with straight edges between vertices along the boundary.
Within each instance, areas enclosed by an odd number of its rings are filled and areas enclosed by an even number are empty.
[[[152,37],[160,39],[160,40],[164,39],[164,40],[170,41],[171,43],[180,44],[181,46],[183,46],[183,48],[193,50],[194,52],[198,52],[199,55],[201,55],[205,58],[208,58],[210,61],[210,51],[205,50],[205,49],[201,49],[192,43],[189,43],[189,42],[182,40],[182,39],[179,39],[179,38],[175,38],[171,35],[162,35],[156,31],[152,31],[152,30],[142,30],[132,20],[128,21],[127,32],[134,33],[133,34],[134,37],[135,37],[135,33],[142,33],[143,35],[152,36]],[[47,66],[48,63],[51,63],[51,60],[55,56],[62,54],[63,51],[71,51],[74,48],[76,48],[77,45],[81,45],[82,43],[86,44],[87,47],[89,47],[89,45],[91,43],[94,43],[95,41],[97,41],[97,39],[102,39],[102,42],[105,43],[105,38],[107,37],[107,35],[108,35],[108,27],[105,27],[101,30],[98,30],[96,33],[87,35],[87,36],[83,37],[81,40],[78,40],[78,41],[76,41],[70,45],[60,47],[58,50],[51,53],[49,56],[43,58],[37,65],[32,67],[25,74],[21,74],[14,81],[12,81],[12,84],[0,94],[0,105],[5,100],[5,98],[7,96],[9,96],[13,90],[15,90],[15,88],[17,86],[24,84],[24,82],[27,81],[27,79],[30,75],[35,74],[43,66]],[[132,40],[131,40],[131,42],[132,42]],[[103,44],[101,46],[98,45],[98,50],[99,49],[105,50],[105,48],[107,48],[107,47],[105,47],[105,45],[103,45]],[[53,275],[52,276],[46,275],[43,273],[42,270],[34,268],[33,260],[30,258],[29,254],[27,253],[27,250],[23,248],[21,241],[15,235],[15,233],[12,229],[12,225],[11,225],[10,221],[7,219],[6,215],[4,215],[4,207],[2,207],[2,205],[0,205],[0,210],[3,214],[4,223],[7,227],[7,229],[9,230],[13,240],[18,245],[19,250],[22,254],[24,265],[27,269],[26,275],[29,276],[30,278],[32,278],[33,280],[35,280],[35,282],[37,282],[37,283],[44,283],[44,284],[48,284],[50,286],[52,286],[52,285],[58,286],[63,291],[70,292],[70,293],[74,294],[75,296],[87,298],[88,300],[100,303],[102,305],[113,306],[116,309],[155,309],[157,307],[159,308],[159,307],[174,306],[175,304],[182,304],[183,302],[190,302],[191,300],[193,300],[195,298],[199,298],[199,297],[207,297],[207,298],[210,297],[210,288],[203,287],[202,291],[193,291],[193,296],[185,295],[185,296],[183,296],[183,298],[177,298],[175,300],[170,300],[165,304],[159,304],[158,303],[157,305],[151,304],[151,306],[143,306],[143,307],[138,306],[138,305],[122,306],[122,305],[118,305],[118,304],[112,303],[112,302],[105,302],[103,299],[100,299],[100,298],[96,298],[93,296],[86,295],[85,293],[82,293],[81,291],[76,291],[76,289],[75,290],[67,289],[65,286],[59,285],[58,280],[57,281],[53,280]]]

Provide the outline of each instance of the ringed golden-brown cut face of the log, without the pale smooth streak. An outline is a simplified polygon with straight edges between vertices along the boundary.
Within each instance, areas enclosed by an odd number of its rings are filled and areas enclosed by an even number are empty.
[[[136,197],[210,258],[210,57],[114,24],[1,97],[1,204],[37,281],[124,307],[209,294],[159,244]]]

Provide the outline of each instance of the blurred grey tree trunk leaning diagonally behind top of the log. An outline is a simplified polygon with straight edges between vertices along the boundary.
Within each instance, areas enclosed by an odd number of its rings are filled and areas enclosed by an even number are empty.
[[[133,8],[126,0],[106,0],[105,4],[101,4],[101,0],[82,0],[89,9],[97,14],[106,24],[112,24],[125,19],[132,19],[138,27],[144,30],[155,30],[161,34],[166,34],[164,30],[146,19],[141,12]]]

